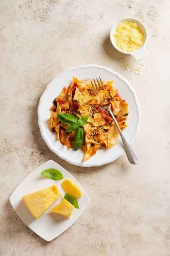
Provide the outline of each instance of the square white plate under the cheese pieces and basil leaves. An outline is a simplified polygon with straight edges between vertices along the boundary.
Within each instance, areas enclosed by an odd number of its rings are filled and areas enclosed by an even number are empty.
[[[43,177],[40,173],[45,169],[55,168],[59,170],[62,175],[62,180],[51,180]],[[65,191],[62,188],[62,182],[66,179],[71,179],[73,183],[76,183],[82,191],[82,196],[78,198],[79,209],[74,209],[70,219],[60,216],[56,213],[51,213],[50,209],[55,207],[56,204],[60,204],[61,199],[65,195]],[[33,193],[40,189],[47,188],[52,185],[57,185],[61,197],[58,198],[52,205],[47,209],[42,216],[35,219],[29,209],[26,207],[22,196]],[[90,199],[82,186],[77,182],[77,180],[66,171],[62,166],[56,162],[49,160],[48,162],[42,164],[32,173],[30,173],[15,189],[10,197],[10,202],[13,209],[16,211],[21,220],[32,229],[38,236],[41,236],[46,241],[51,241],[60,234],[62,234],[66,229],[68,229],[73,223],[82,215],[86,207],[88,206]]]

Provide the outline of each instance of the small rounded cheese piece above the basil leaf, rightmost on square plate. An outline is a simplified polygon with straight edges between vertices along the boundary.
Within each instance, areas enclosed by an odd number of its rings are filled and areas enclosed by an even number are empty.
[[[82,196],[82,191],[76,184],[73,184],[71,180],[64,180],[62,187],[66,193],[74,195],[75,198]]]

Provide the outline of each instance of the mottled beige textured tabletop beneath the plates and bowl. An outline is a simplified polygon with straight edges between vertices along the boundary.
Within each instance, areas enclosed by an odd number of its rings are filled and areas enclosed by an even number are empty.
[[[0,255],[170,256],[170,1],[1,0]],[[148,57],[135,62],[109,40],[120,18],[148,29]],[[67,67],[101,64],[131,82],[141,104],[133,144],[137,166],[126,155],[98,168],[58,158],[38,127],[46,85]],[[91,204],[50,243],[17,216],[9,197],[40,164],[53,159],[87,191]]]

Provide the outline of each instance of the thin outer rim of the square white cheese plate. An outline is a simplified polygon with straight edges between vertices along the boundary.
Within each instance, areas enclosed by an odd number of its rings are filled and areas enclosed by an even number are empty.
[[[27,177],[29,177],[34,171],[36,171],[38,168],[40,168],[40,167],[42,167],[44,164],[46,164],[46,163],[48,163],[48,162],[52,162],[53,164],[58,164],[57,162],[55,162],[55,161],[53,161],[53,160],[48,160],[48,161],[46,161],[46,162],[44,162],[43,164],[41,164],[40,166],[38,166],[37,168],[35,168],[33,171],[31,171],[31,173],[29,173],[19,184],[18,184],[18,186],[20,186],[20,184],[22,184],[22,182],[24,182],[24,180],[26,180],[27,179]],[[58,164],[60,167],[62,167],[60,164]],[[66,172],[68,172],[64,167],[62,167]],[[71,177],[73,177],[75,180],[76,180],[76,182],[77,182],[77,184],[80,186],[80,187],[82,187],[82,185],[77,181],[77,179],[70,173],[70,172],[68,172],[69,173],[69,175],[71,175]],[[13,207],[13,209],[14,209],[14,211],[15,211],[15,213],[18,215],[18,217],[20,218],[20,220],[22,220],[22,222],[24,222],[24,224],[29,228],[29,229],[31,229],[31,227],[29,227],[26,223],[25,223],[25,221],[19,216],[19,214],[18,214],[18,212],[15,210],[15,208],[14,208],[14,206],[13,206],[13,194],[14,194],[14,192],[18,189],[18,186],[14,189],[14,191],[13,191],[13,193],[10,195],[10,198],[9,198],[9,202],[11,203],[11,206]],[[89,198],[89,196],[88,196],[88,194],[86,193],[86,191],[84,190],[84,188],[82,187],[82,189],[83,189],[83,191],[85,192],[84,194],[86,195],[86,198],[87,198],[87,200],[88,200],[88,203],[87,203],[87,205],[86,205],[86,207],[85,207],[85,209],[84,209],[84,211],[86,210],[86,208],[88,207],[88,205],[90,204],[90,198]],[[78,216],[78,218],[75,220],[75,222],[80,218],[80,216],[84,213],[84,211]],[[75,222],[73,222],[73,224],[75,223]],[[46,240],[47,242],[50,242],[50,241],[52,241],[53,239],[55,239],[55,238],[57,238],[58,236],[60,236],[62,233],[64,233],[68,228],[70,228],[73,224],[71,224],[71,225],[69,225],[64,231],[62,231],[59,235],[57,235],[57,236],[55,236],[54,238],[52,238],[52,239],[47,239],[47,238],[45,238],[44,236],[42,236],[39,232],[35,232],[33,229],[31,229],[35,234],[37,234],[38,236],[40,236],[41,238],[43,238],[44,240]]]

